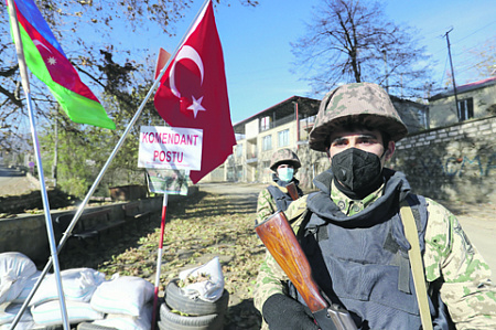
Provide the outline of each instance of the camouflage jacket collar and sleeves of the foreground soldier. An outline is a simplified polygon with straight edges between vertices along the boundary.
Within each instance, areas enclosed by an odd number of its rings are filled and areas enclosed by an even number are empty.
[[[382,193],[384,185],[362,201],[354,201],[339,192],[333,183],[331,199],[346,215],[360,212]],[[306,213],[303,196],[291,203],[285,214],[294,232]],[[440,294],[448,306],[456,329],[496,329],[496,287],[490,281],[490,269],[477,249],[470,243],[456,217],[441,204],[427,200],[429,212],[423,255],[425,279],[442,278]],[[288,294],[288,277],[267,253],[260,266],[255,288],[255,306],[274,294]],[[267,329],[263,323],[262,329]]]

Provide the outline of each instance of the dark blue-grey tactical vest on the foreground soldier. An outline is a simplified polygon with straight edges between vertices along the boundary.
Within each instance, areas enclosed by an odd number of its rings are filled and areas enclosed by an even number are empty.
[[[367,209],[371,211],[360,212],[365,215],[346,216],[328,194],[313,193],[308,199],[310,212],[298,232],[315,281],[333,302],[351,311],[359,329],[421,329],[408,258],[410,244],[403,234],[399,206],[391,207],[392,198],[398,199],[398,194],[381,196],[376,203],[382,207],[370,205]],[[412,194],[408,199],[423,254],[425,200]],[[439,290],[430,294],[434,329],[450,329]]]

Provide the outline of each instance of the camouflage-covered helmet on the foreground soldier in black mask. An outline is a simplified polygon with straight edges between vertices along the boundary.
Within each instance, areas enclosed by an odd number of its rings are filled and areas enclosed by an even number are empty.
[[[351,124],[360,124],[387,132],[393,141],[408,134],[407,126],[386,91],[371,83],[354,83],[339,86],[324,96],[315,125],[310,131],[310,148],[325,151],[332,131]]]

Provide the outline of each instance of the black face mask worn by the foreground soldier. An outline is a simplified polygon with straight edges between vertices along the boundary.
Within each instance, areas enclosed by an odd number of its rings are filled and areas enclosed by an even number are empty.
[[[333,157],[331,170],[345,188],[362,194],[377,185],[382,167],[377,155],[349,148]]]

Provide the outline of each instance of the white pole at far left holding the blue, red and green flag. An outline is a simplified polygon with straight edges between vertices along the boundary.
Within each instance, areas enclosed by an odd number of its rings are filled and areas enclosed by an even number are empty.
[[[48,244],[50,244],[50,249],[52,253],[53,268],[54,268],[54,273],[55,273],[58,299],[60,299],[60,304],[61,304],[62,321],[64,324],[64,330],[69,330],[71,328],[69,328],[69,322],[68,322],[68,317],[67,317],[67,308],[65,305],[64,290],[62,287],[61,269],[60,269],[58,258],[57,258],[55,235],[53,232],[52,216],[50,214],[48,195],[46,193],[45,177],[43,174],[43,164],[42,164],[42,159],[41,159],[41,155],[40,155],[40,143],[37,140],[36,127],[35,127],[35,123],[34,123],[34,113],[33,113],[33,107],[32,107],[30,82],[28,78],[28,70],[26,70],[26,65],[25,65],[24,51],[22,47],[22,39],[21,39],[20,30],[19,30],[19,22],[18,22],[18,17],[15,13],[15,7],[13,3],[13,0],[8,0],[8,4],[9,4],[9,15],[10,15],[11,25],[12,25],[12,34],[13,34],[14,41],[15,41],[15,51],[18,53],[19,71],[21,73],[22,87],[24,89],[24,94],[25,94],[26,100],[28,100],[28,111],[29,111],[29,117],[30,117],[31,135],[33,138],[34,153],[35,153],[36,163],[37,163],[40,191],[41,191],[42,201],[43,201],[46,232],[48,234]],[[23,312],[24,312],[24,309],[21,309],[20,312],[17,315],[17,318],[20,319]],[[13,327],[15,327],[15,323],[13,323],[11,329],[13,329]]]

